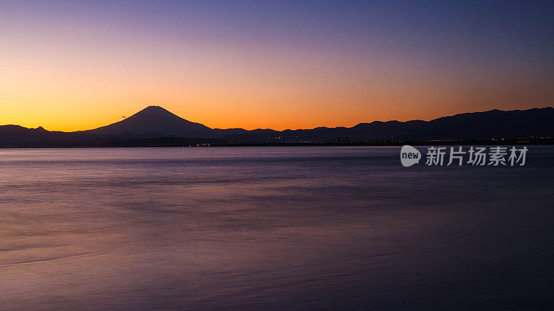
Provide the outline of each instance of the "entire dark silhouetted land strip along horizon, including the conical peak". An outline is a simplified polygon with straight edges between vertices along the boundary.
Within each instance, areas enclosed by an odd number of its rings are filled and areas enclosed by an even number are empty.
[[[156,140],[154,138],[190,138]],[[46,131],[18,125],[0,126],[0,144],[18,146],[115,146],[136,144],[210,144],[210,143],[280,143],[332,142],[336,138],[357,140],[444,140],[490,138],[554,137],[554,108],[528,110],[492,110],[461,113],[431,121],[388,121],[360,123],[348,127],[318,127],[275,131],[272,129],[211,129],[190,122],[160,106],[148,106],[125,120],[89,131]],[[71,142],[71,143],[69,143]],[[83,143],[81,143],[83,142]],[[163,142],[163,144],[162,144]],[[22,144],[25,143],[25,144]]]

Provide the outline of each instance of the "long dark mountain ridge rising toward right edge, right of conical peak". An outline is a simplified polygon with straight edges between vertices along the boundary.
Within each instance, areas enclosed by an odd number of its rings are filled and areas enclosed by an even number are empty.
[[[334,138],[357,140],[470,140],[492,138],[553,138],[554,108],[461,113],[431,121],[374,121],[348,127],[318,127],[278,133],[227,135],[242,142],[332,142]]]

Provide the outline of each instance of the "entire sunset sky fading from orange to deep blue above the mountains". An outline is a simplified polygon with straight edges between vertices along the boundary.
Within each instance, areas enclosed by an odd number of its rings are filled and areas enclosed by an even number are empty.
[[[0,0],[0,124],[309,129],[553,106],[554,1]]]

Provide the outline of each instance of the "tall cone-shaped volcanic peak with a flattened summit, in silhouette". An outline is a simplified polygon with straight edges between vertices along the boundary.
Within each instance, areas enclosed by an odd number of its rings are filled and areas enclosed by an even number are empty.
[[[125,120],[98,129],[82,131],[82,133],[97,135],[157,133],[166,136],[197,138],[210,136],[211,131],[212,129],[204,124],[185,120],[160,106],[148,106]]]

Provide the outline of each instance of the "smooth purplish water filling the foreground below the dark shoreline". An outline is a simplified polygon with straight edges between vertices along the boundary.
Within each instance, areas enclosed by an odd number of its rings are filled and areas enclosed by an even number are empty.
[[[554,308],[554,148],[1,149],[0,308]]]

